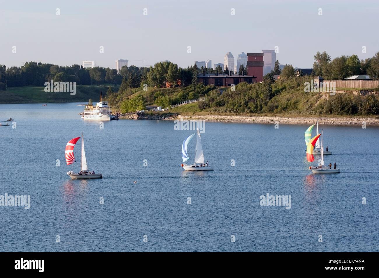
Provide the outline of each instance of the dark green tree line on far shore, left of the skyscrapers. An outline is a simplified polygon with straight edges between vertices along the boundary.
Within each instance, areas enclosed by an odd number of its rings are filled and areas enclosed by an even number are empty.
[[[21,67],[8,68],[0,64],[0,83],[6,81],[9,87],[44,86],[45,82],[54,80],[54,82],[76,82],[77,85],[121,84],[122,89],[128,89],[138,88],[143,84],[164,87],[167,82],[175,87],[191,84],[193,73],[193,67],[180,68],[172,62],[159,62],[145,68],[124,66],[119,73],[113,68],[83,68],[80,65],[62,67],[41,62],[26,62]]]

